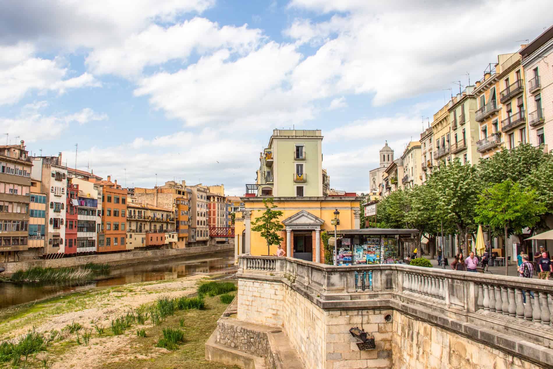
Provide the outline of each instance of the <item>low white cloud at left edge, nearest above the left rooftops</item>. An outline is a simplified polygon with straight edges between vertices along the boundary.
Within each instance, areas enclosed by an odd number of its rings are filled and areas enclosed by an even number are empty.
[[[103,121],[106,114],[97,114],[91,108],[70,115],[43,115],[39,112],[48,104],[45,101],[25,105],[22,113],[15,118],[0,117],[0,127],[10,136],[24,137],[26,142],[59,139],[60,134],[69,128],[71,123],[85,124],[92,121]]]

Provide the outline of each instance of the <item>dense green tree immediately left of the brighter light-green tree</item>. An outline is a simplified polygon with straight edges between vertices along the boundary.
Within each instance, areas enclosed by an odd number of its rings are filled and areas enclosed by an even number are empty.
[[[436,195],[437,220],[455,228],[458,240],[463,248],[467,246],[467,235],[476,231],[476,204],[481,193],[482,181],[478,178],[477,169],[472,165],[463,165],[456,158],[439,168],[434,169],[427,186],[434,189]]]

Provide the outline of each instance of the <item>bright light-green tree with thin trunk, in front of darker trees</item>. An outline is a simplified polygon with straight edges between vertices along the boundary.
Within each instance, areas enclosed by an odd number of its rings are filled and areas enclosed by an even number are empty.
[[[533,227],[545,212],[545,206],[538,200],[534,190],[525,189],[519,183],[505,180],[484,191],[478,198],[477,221],[489,224],[495,229],[503,228],[505,257],[507,257],[507,237],[521,233],[522,228]],[[505,262],[505,276],[509,263]]]

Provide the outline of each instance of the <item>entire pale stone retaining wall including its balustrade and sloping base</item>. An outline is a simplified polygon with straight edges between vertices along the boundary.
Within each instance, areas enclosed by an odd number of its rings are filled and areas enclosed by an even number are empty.
[[[551,281],[405,264],[238,262],[237,315],[220,319],[207,358],[251,368],[553,368]],[[353,327],[375,348],[359,350]]]

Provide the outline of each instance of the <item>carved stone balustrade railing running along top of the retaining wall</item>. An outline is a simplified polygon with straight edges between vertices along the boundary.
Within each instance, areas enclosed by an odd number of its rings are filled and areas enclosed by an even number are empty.
[[[553,349],[553,282],[407,264],[327,266],[289,257],[238,257],[238,278],[281,281],[324,310],[396,309],[446,329],[479,329]],[[368,288],[356,275],[370,272]],[[525,302],[524,302],[525,301]],[[465,326],[458,326],[461,322]],[[449,325],[449,326],[447,326]],[[469,335],[469,334],[468,334]],[[482,341],[482,339],[479,339]],[[508,341],[508,340],[507,340]],[[516,349],[507,343],[496,347]],[[551,356],[553,358],[553,355]]]

